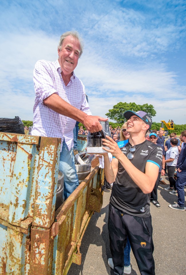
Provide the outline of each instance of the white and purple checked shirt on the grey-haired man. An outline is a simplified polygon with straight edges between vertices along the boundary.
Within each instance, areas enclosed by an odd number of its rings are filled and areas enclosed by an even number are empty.
[[[60,115],[44,105],[43,100],[56,93],[72,106],[92,115],[85,96],[85,87],[73,72],[67,86],[61,76],[58,60],[50,62],[39,60],[34,68],[34,89],[36,99],[34,104],[34,119],[32,135],[44,137],[60,137],[61,149],[63,139],[68,150],[73,148],[73,129],[76,121],[70,117]]]

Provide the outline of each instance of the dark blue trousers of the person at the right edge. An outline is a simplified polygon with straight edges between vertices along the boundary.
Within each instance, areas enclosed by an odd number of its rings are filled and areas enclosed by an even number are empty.
[[[178,204],[181,207],[184,207],[184,203],[185,203],[185,194],[184,194],[185,184],[186,184],[186,171],[181,171],[181,173],[177,171],[176,189],[178,192]]]

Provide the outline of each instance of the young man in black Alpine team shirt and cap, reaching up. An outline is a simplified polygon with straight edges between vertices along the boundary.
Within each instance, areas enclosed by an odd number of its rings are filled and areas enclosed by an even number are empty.
[[[109,203],[109,240],[114,275],[123,275],[124,247],[127,237],[136,258],[141,275],[155,274],[150,215],[150,192],[152,192],[160,164],[162,148],[158,149],[145,139],[152,125],[151,117],[144,111],[126,111],[126,131],[129,139],[119,146],[110,137],[103,139],[105,176],[114,182]]]

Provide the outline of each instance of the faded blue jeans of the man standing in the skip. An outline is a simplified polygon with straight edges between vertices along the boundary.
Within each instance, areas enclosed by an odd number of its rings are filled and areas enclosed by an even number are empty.
[[[68,151],[65,140],[63,140],[60,153],[59,170],[64,174],[64,199],[66,200],[79,186],[79,180],[75,168],[73,148]]]

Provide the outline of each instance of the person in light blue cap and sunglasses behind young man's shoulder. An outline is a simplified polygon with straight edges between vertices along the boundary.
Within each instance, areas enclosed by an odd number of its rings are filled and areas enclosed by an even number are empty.
[[[150,142],[157,144],[157,139],[158,136],[156,135],[156,133],[150,133],[149,135],[149,140]],[[159,173],[158,173],[158,177],[156,180],[156,183],[154,185],[154,188],[150,194],[150,202],[153,203],[153,205],[155,205],[157,208],[160,208],[160,203],[158,202],[158,184],[160,182],[160,176],[164,176],[165,175],[165,150],[163,148],[163,146],[161,144],[158,144],[159,147],[162,148],[162,152],[163,152],[163,156],[162,156],[162,164],[160,165],[159,168]]]

